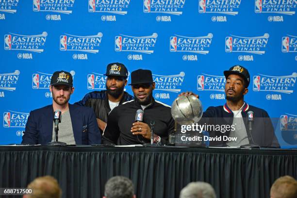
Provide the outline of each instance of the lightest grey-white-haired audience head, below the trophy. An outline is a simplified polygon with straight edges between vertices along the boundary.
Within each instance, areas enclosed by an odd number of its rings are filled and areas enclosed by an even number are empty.
[[[180,194],[180,198],[216,198],[211,184],[197,181],[186,185]]]

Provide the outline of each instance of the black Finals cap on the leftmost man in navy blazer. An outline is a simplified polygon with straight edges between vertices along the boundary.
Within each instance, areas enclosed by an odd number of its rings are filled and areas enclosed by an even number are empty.
[[[55,71],[50,79],[50,85],[67,85],[73,86],[72,75],[67,71]]]

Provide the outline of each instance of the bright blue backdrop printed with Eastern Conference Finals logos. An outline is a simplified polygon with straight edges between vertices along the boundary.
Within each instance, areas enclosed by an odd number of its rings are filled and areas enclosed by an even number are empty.
[[[71,71],[74,103],[121,62],[152,70],[155,99],[189,90],[204,110],[225,103],[223,70],[245,66],[245,100],[281,118],[281,145],[296,147],[296,11],[297,0],[0,0],[0,144],[20,143],[30,111],[51,103],[54,71]]]

